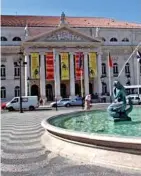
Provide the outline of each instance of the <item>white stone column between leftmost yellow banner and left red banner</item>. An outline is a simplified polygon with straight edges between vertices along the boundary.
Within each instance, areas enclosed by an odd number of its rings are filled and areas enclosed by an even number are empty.
[[[45,57],[44,53],[40,54],[40,96],[44,100],[46,98],[45,91]]]

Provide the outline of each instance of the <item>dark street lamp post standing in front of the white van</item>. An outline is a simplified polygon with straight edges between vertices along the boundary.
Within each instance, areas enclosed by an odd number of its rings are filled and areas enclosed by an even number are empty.
[[[27,62],[23,62],[23,52],[20,49],[18,53],[19,60],[18,62],[14,62],[14,65],[19,66],[20,68],[20,113],[23,113],[22,109],[22,67],[27,64]]]

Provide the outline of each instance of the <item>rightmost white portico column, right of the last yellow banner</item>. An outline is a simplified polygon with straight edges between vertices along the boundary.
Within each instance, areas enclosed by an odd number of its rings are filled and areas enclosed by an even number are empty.
[[[98,68],[97,68],[97,86],[98,86],[98,95],[100,96],[101,95],[101,93],[102,93],[102,83],[101,83],[101,75],[102,75],[102,66],[101,66],[101,64],[102,64],[102,62],[101,62],[101,55],[102,55],[102,53],[101,52],[99,52],[98,54],[97,54],[97,62],[98,62]]]

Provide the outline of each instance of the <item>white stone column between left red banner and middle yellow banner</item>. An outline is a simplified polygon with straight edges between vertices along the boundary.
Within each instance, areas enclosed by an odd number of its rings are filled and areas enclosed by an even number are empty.
[[[59,99],[60,96],[60,64],[59,54],[54,53],[54,80],[55,80],[55,98]]]

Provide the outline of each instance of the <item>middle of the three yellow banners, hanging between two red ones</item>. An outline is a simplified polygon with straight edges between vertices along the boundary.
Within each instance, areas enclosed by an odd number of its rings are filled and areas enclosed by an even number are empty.
[[[68,53],[61,53],[61,80],[69,80],[69,77]]]

